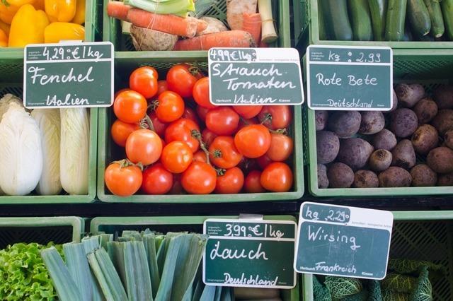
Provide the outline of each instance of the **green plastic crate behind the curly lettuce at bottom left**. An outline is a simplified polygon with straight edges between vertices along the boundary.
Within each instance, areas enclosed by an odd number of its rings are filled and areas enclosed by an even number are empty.
[[[82,218],[0,218],[0,249],[16,242],[80,242],[85,224]]]

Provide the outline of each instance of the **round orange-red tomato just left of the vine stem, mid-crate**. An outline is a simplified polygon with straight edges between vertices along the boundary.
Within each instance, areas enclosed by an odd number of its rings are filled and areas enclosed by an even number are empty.
[[[187,144],[181,141],[168,143],[161,155],[161,163],[173,174],[180,174],[187,170],[192,163],[193,153]]]

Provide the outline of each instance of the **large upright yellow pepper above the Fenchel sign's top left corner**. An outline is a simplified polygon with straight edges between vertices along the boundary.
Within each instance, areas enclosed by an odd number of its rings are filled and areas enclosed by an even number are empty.
[[[24,47],[27,44],[44,42],[44,30],[49,19],[44,11],[37,11],[31,4],[19,8],[11,23],[8,46]]]

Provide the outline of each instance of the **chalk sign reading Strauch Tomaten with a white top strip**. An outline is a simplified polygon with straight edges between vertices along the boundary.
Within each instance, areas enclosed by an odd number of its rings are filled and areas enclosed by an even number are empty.
[[[304,88],[294,48],[211,48],[213,105],[301,105]]]

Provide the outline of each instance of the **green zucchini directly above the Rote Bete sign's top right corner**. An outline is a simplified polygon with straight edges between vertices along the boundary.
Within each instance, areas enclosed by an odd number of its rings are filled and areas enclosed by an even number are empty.
[[[389,0],[385,23],[385,39],[401,41],[404,37],[404,22],[408,0]]]

